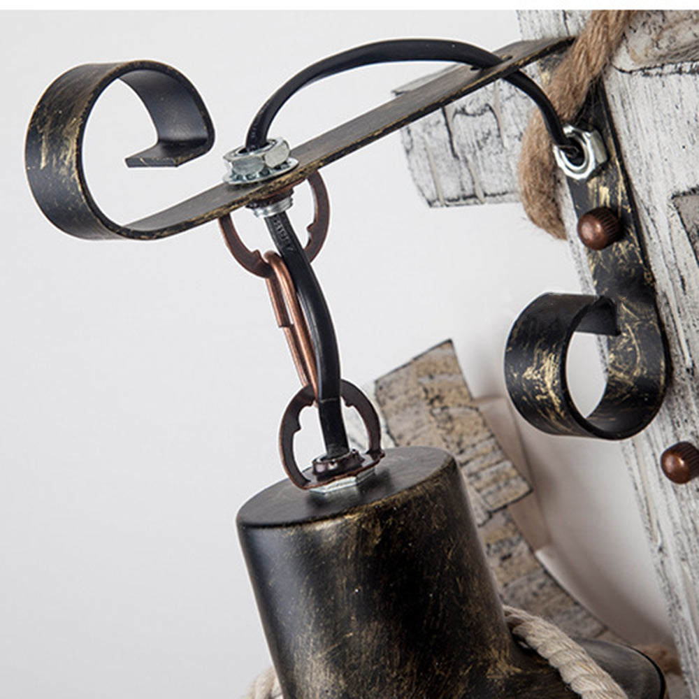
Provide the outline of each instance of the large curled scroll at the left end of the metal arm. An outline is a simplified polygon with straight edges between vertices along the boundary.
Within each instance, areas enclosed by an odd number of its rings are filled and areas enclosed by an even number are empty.
[[[214,127],[201,96],[185,75],[154,61],[85,64],[57,78],[31,115],[25,161],[29,186],[45,216],[78,238],[152,238],[109,219],[97,206],[82,166],[87,120],[115,80],[136,92],[157,141],[127,157],[129,167],[176,167],[208,152]]]

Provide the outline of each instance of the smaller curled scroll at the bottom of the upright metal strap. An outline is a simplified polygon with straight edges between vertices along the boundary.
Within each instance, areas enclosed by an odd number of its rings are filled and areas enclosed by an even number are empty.
[[[514,407],[536,428],[559,435],[621,440],[655,417],[667,384],[658,326],[647,309],[604,296],[544,294],[521,313],[505,348]],[[607,386],[590,415],[579,412],[566,376],[575,332],[607,336]]]

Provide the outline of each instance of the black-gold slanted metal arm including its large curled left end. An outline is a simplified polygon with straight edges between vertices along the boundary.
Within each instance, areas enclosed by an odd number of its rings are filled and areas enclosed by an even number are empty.
[[[521,41],[498,50],[509,57],[488,69],[459,66],[406,94],[294,148],[298,166],[274,180],[252,185],[219,184],[164,211],[127,224],[104,214],[89,191],[82,145],[90,111],[117,79],[127,82],[149,110],[158,143],[131,156],[133,166],[178,166],[208,152],[214,130],[203,100],[182,73],[150,61],[77,66],[53,82],[31,116],[25,157],[38,206],[59,229],[78,238],[152,240],[180,233],[302,182],[359,148],[373,143],[470,92],[517,73],[560,51],[569,38]]]

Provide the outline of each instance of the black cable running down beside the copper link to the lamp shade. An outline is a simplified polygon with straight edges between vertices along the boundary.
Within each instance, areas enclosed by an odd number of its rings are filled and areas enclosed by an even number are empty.
[[[286,213],[265,218],[280,256],[289,269],[308,323],[318,370],[318,415],[325,442],[325,459],[349,452],[340,403],[340,353],[330,310],[320,284]]]

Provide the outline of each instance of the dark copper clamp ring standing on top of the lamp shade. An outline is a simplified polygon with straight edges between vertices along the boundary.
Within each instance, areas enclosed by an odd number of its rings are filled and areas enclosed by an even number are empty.
[[[287,475],[294,485],[303,490],[327,485],[340,478],[346,478],[366,471],[368,468],[375,466],[384,456],[384,451],[381,448],[381,425],[379,423],[379,417],[374,410],[374,406],[371,405],[369,399],[354,386],[354,384],[343,380],[341,386],[345,405],[347,405],[347,408],[354,408],[359,412],[359,417],[361,417],[366,427],[366,435],[369,442],[368,449],[364,454],[359,455],[359,465],[357,468],[348,472],[346,471],[345,473],[340,473],[335,477],[331,476],[319,480],[316,475],[312,473],[312,469],[308,469],[304,473],[301,473],[296,463],[296,457],[294,456],[294,435],[301,429],[301,423],[298,421],[301,410],[315,403],[313,389],[310,386],[303,387],[294,398],[291,398],[291,402],[287,405],[287,409],[284,410],[282,424],[279,429],[279,447],[282,456],[282,466],[284,466],[284,470],[287,472]]]

